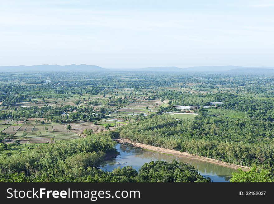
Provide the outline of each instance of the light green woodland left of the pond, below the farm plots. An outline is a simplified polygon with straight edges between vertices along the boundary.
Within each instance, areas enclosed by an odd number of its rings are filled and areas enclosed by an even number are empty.
[[[86,138],[35,146],[33,149],[0,158],[4,175],[23,172],[30,180],[56,181],[81,178],[98,169],[105,154],[115,151],[114,133],[87,134]]]

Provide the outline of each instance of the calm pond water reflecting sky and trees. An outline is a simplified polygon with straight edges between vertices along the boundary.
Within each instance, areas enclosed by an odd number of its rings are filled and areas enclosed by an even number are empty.
[[[146,162],[149,163],[150,161],[156,160],[171,162],[173,159],[176,159],[177,161],[193,165],[195,169],[198,169],[201,175],[210,177],[212,182],[229,182],[231,173],[236,171],[236,169],[210,164],[208,162],[197,160],[189,161],[187,158],[146,151],[141,148],[126,146],[124,144],[117,144],[115,148],[120,152],[120,155],[105,161],[101,166],[102,170],[112,171],[119,166],[121,168],[124,166],[132,166],[134,169],[138,170]],[[120,164],[118,165],[117,163]]]

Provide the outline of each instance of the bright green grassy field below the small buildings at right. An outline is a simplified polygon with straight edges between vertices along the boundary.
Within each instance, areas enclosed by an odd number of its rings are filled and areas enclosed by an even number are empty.
[[[231,119],[247,119],[247,115],[243,111],[236,111],[230,109],[205,109],[205,114],[209,116],[231,118]]]

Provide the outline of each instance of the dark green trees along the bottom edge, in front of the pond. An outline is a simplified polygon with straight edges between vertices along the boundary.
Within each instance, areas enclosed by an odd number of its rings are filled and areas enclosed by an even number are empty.
[[[66,173],[69,174],[62,177],[55,176],[49,180],[45,176],[31,177],[24,173],[0,174],[0,182],[210,182],[210,178],[201,176],[193,166],[178,163],[176,160],[172,163],[163,161],[145,163],[139,169],[138,174],[131,166],[118,167],[112,172],[92,168],[89,161],[85,159],[80,158],[76,164],[79,168],[88,166],[86,171],[82,170],[80,175],[73,172],[72,169],[75,167],[72,165],[75,161],[72,161],[72,164],[67,167]]]

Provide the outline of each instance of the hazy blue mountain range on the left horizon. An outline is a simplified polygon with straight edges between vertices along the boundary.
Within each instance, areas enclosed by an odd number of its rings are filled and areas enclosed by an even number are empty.
[[[22,71],[107,71],[107,69],[87,64],[70,64],[70,65],[58,65],[58,64],[41,64],[33,66],[0,66],[0,72],[22,72]]]

